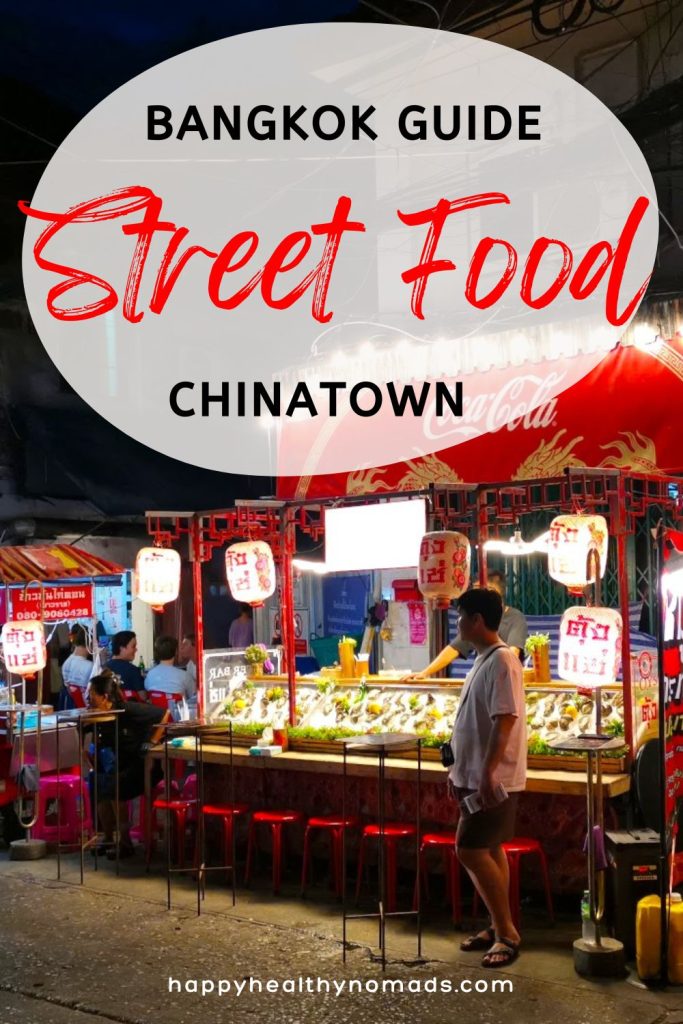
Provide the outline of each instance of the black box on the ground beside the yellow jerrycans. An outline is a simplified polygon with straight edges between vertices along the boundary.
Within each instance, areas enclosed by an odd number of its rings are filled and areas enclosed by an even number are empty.
[[[651,828],[605,833],[609,867],[606,879],[605,918],[626,953],[636,951],[638,900],[657,892],[659,836]]]

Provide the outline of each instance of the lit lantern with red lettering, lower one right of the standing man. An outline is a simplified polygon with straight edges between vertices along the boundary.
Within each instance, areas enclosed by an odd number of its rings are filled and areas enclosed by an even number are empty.
[[[622,616],[613,608],[567,608],[560,623],[557,671],[579,686],[613,683],[622,659]]]

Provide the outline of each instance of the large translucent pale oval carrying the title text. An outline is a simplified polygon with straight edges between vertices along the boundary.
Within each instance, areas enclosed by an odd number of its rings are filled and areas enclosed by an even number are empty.
[[[256,32],[153,68],[74,129],[31,209],[27,298],[72,386],[158,452],[254,475],[413,459],[528,415],[617,342],[657,237],[645,160],[586,89],[495,43],[386,25]],[[428,258],[419,308],[402,274]]]

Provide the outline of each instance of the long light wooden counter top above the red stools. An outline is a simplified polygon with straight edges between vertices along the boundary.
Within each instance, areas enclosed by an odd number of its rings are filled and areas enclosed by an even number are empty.
[[[169,751],[170,760],[194,761],[197,754],[194,748],[173,746]],[[150,751],[147,758],[163,760],[164,748],[156,746]],[[226,746],[204,744],[204,761],[206,764],[227,764],[229,750]],[[288,751],[273,758],[252,757],[246,746],[232,748],[232,762],[240,768],[254,768],[260,771],[296,771],[312,772],[314,774],[341,775],[343,761],[341,755],[304,754],[298,751]],[[417,761],[401,758],[387,758],[385,761],[386,777],[402,781],[413,781],[417,770]],[[346,759],[346,771],[349,776],[373,778],[377,776],[377,758],[349,755]],[[148,773],[147,773],[148,774]],[[422,779],[424,782],[444,782],[445,769],[436,761],[422,762]],[[605,797],[618,797],[628,793],[631,787],[631,776],[628,774],[602,776]],[[586,797],[586,777],[579,771],[541,771],[529,768],[526,776],[526,793],[554,793],[568,797]]]

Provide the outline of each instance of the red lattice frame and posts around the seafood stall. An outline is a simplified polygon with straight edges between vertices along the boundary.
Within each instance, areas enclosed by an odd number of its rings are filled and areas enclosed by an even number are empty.
[[[502,530],[514,527],[520,516],[529,512],[548,509],[557,512],[600,513],[607,519],[610,534],[616,539],[620,604],[624,621],[628,622],[627,538],[635,531],[636,519],[645,515],[651,505],[658,505],[663,513],[669,511],[675,516],[683,514],[683,498],[672,497],[670,484],[683,488],[683,481],[678,477],[624,474],[617,469],[567,469],[562,476],[547,479],[485,484],[434,483],[424,490],[340,496],[319,502],[288,501],[276,505],[246,502],[234,508],[209,512],[148,512],[147,531],[155,543],[163,547],[170,547],[183,537],[189,539],[200,715],[204,710],[202,563],[211,558],[215,548],[232,541],[263,540],[270,545],[281,566],[283,644],[289,680],[290,721],[294,725],[296,652],[292,559],[296,550],[297,530],[313,541],[319,541],[324,536],[326,508],[377,504],[410,497],[426,498],[429,505],[429,528],[470,531],[473,544],[480,551],[485,541],[496,539]],[[482,585],[486,582],[485,558],[479,558],[479,582]],[[628,629],[623,632],[622,665],[625,739],[632,746],[631,642]]]

